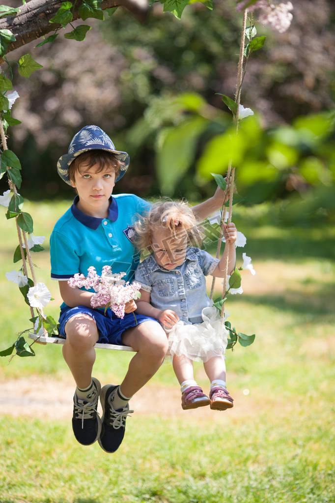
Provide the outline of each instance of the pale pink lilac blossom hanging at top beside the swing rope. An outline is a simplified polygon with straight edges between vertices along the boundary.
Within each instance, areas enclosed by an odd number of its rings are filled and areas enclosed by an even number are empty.
[[[246,2],[241,2],[237,6],[238,11],[245,9]],[[262,25],[269,25],[274,30],[279,33],[284,33],[291,25],[293,19],[292,14],[289,11],[293,10],[293,5],[291,2],[286,2],[286,4],[271,4],[268,0],[259,0],[255,4],[249,7],[251,10],[259,10],[259,22]]]

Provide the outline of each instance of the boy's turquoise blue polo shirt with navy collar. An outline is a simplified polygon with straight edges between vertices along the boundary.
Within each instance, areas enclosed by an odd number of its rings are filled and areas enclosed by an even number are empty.
[[[140,262],[140,252],[132,243],[133,224],[148,212],[150,203],[134,194],[118,194],[110,199],[107,218],[95,218],[77,208],[78,200],[76,196],[51,233],[51,278],[87,276],[90,266],[100,275],[103,266],[110,266],[113,273],[125,272],[123,279],[132,281]]]

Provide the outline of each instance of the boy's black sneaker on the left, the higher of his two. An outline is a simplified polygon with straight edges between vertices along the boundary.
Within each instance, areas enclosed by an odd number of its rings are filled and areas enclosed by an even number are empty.
[[[82,445],[93,444],[101,432],[101,420],[96,411],[101,384],[94,377],[92,382],[95,387],[92,401],[81,400],[76,393],[73,397],[72,430],[75,438]]]

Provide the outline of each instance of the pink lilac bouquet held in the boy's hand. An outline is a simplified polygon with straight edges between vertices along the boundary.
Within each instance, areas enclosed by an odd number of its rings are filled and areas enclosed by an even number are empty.
[[[102,268],[101,276],[96,274],[93,266],[88,268],[87,277],[83,274],[75,274],[73,278],[68,280],[71,288],[92,288],[94,294],[91,297],[91,306],[104,307],[105,311],[108,307],[119,317],[125,316],[125,305],[131,300],[136,300],[141,297],[139,292],[141,285],[134,281],[123,280],[126,273],[113,274],[110,266]]]

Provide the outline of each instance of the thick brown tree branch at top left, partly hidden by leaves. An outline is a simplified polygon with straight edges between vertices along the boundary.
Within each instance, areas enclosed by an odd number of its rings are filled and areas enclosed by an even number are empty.
[[[73,21],[79,19],[78,9],[81,4],[81,0],[76,2]],[[59,28],[61,25],[49,21],[61,5],[61,0],[31,0],[20,7],[16,16],[0,19],[0,30],[11,30],[16,38],[15,42],[9,44],[7,53]],[[146,21],[149,9],[147,0],[102,0],[101,9],[104,11],[119,6],[128,9],[138,21]]]

